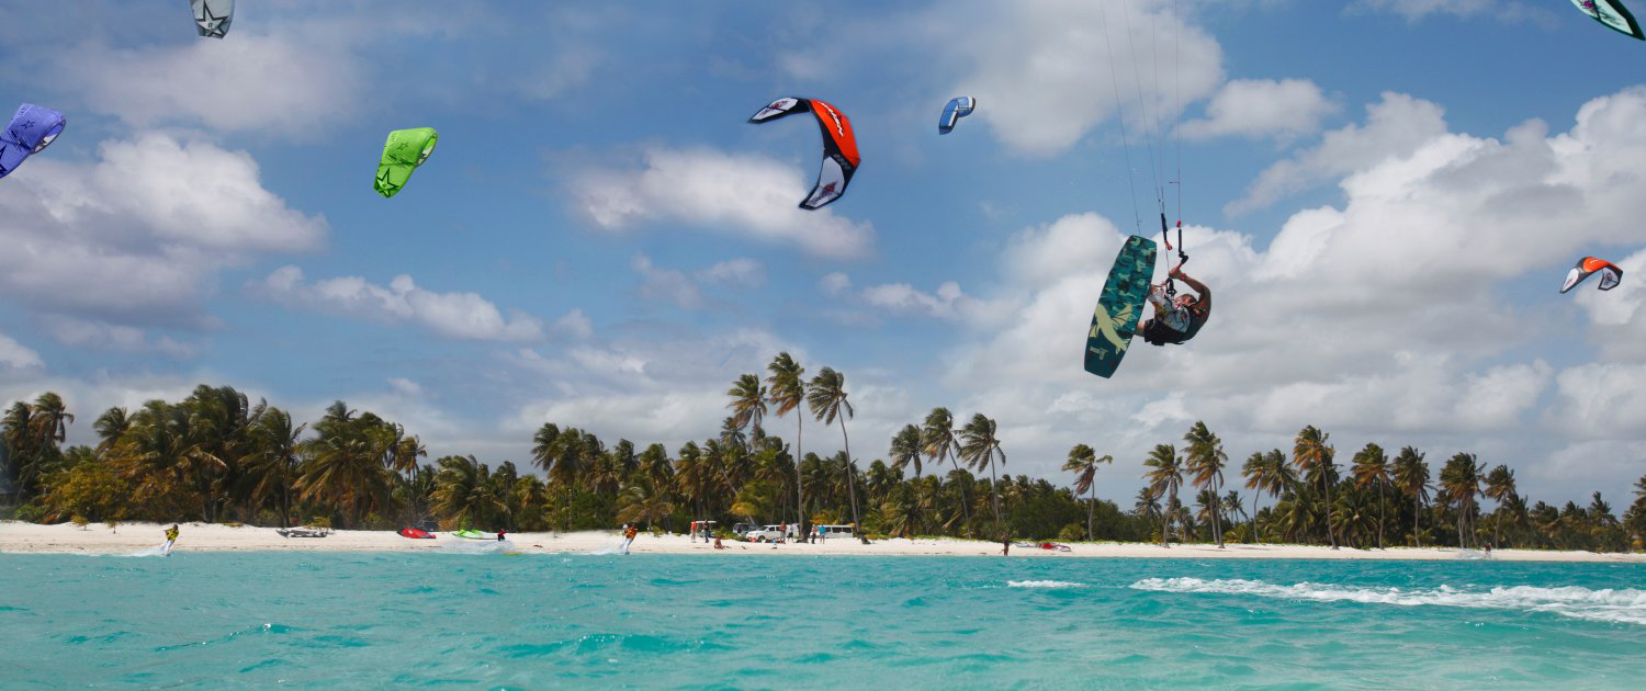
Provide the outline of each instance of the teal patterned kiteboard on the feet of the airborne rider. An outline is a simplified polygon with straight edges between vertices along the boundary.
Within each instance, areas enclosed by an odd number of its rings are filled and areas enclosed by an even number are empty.
[[[1086,331],[1086,372],[1104,378],[1114,375],[1121,359],[1126,357],[1132,334],[1137,332],[1152,278],[1154,240],[1141,235],[1128,237],[1114,257],[1109,278],[1103,281],[1098,308],[1091,313],[1091,329]]]

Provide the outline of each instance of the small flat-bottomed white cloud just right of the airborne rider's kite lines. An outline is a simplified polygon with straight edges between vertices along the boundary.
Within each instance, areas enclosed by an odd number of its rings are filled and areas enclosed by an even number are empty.
[[[1234,79],[1207,104],[1207,118],[1185,122],[1179,133],[1188,140],[1230,135],[1290,140],[1315,133],[1320,118],[1337,110],[1307,79]]]

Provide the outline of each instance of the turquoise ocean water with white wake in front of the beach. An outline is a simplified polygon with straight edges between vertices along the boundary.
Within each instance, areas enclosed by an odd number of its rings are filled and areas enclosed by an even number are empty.
[[[1643,688],[1646,566],[0,554],[0,686]]]

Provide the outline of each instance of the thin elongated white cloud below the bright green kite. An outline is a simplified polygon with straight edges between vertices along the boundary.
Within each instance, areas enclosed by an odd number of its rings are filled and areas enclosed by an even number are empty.
[[[408,275],[398,275],[387,286],[360,276],[328,278],[303,283],[303,270],[281,267],[265,280],[249,285],[293,308],[352,314],[385,322],[412,322],[436,334],[469,341],[538,341],[543,322],[514,311],[504,316],[495,304],[476,293],[435,293],[418,288]]]

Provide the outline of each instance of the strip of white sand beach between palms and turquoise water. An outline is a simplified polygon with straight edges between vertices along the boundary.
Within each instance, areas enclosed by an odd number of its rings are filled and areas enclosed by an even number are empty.
[[[94,523],[77,528],[72,523],[35,525],[0,522],[0,553],[84,553],[127,554],[158,546],[170,525],[122,523],[115,530]],[[336,530],[324,538],[283,538],[275,528],[183,523],[176,551],[420,551],[449,550],[453,543],[484,545],[477,540],[454,538],[439,533],[436,540],[408,540],[387,530]],[[619,535],[612,531],[581,533],[510,533],[509,541],[523,553],[597,553],[616,550]],[[635,554],[937,554],[937,556],[999,556],[999,543],[973,540],[879,540],[861,545],[856,540],[830,540],[821,545],[757,545],[724,541],[726,550],[714,550],[685,535],[652,536],[640,533],[634,541]],[[1014,546],[1011,556],[1027,558],[1078,558],[1078,556],[1142,556],[1142,558],[1246,558],[1246,559],[1460,559],[1478,558],[1480,553],[1462,553],[1455,548],[1440,550],[1332,550],[1305,545],[1174,545],[1170,550],[1146,543],[1070,543],[1072,551],[1047,551]],[[1496,561],[1620,561],[1646,563],[1646,554],[1597,554],[1592,551],[1542,551],[1496,550]]]

